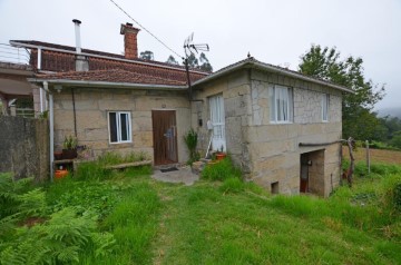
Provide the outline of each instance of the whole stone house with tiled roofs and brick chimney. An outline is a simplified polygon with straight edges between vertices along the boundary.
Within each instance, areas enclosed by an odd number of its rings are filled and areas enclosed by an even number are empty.
[[[51,147],[76,135],[95,156],[134,150],[155,165],[185,163],[183,136],[195,128],[203,155],[229,153],[272,193],[327,196],[339,185],[341,101],[350,89],[252,57],[209,75],[190,70],[188,89],[184,68],[137,59],[138,30],[123,24],[120,32],[131,58],[13,41],[41,65],[29,80],[48,94]],[[65,70],[43,72],[55,65]]]

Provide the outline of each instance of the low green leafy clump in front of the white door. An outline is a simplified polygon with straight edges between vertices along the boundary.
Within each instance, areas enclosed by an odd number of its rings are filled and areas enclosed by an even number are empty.
[[[202,171],[202,177],[211,180],[225,180],[227,178],[242,178],[241,169],[233,165],[229,156],[223,160],[207,165]]]

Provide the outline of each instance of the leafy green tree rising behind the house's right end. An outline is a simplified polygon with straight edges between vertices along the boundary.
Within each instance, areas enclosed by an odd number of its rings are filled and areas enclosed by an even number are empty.
[[[352,89],[355,94],[343,94],[343,137],[371,139],[381,122],[372,111],[384,96],[384,86],[365,80],[362,58],[352,56],[340,59],[336,48],[329,49],[312,45],[301,57],[300,72]]]

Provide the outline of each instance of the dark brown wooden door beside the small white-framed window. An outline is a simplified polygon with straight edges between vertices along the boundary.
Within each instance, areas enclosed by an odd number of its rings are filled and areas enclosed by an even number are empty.
[[[177,163],[176,111],[153,110],[151,120],[155,165]]]

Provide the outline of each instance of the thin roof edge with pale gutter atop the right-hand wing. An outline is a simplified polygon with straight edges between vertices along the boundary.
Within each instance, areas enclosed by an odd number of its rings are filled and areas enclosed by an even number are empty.
[[[310,76],[306,76],[306,75],[303,75],[301,72],[293,71],[293,70],[290,70],[290,69],[286,69],[286,68],[282,68],[282,67],[278,67],[278,66],[273,66],[273,65],[270,65],[270,63],[266,63],[266,62],[262,62],[262,61],[256,60],[253,57],[248,57],[245,60],[241,60],[241,61],[237,61],[237,62],[235,62],[233,65],[224,67],[224,68],[219,69],[218,71],[215,71],[215,72],[208,75],[207,77],[204,77],[204,78],[195,81],[193,84],[193,86],[196,87],[196,86],[199,86],[199,85],[205,84],[207,81],[215,80],[218,77],[228,75],[228,73],[231,73],[233,71],[236,71],[238,69],[242,69],[242,68],[254,68],[254,69],[261,69],[261,70],[265,70],[265,71],[270,71],[270,72],[277,72],[277,73],[281,73],[283,76],[293,77],[293,78],[297,78],[297,79],[301,79],[301,80],[304,80],[304,81],[310,81],[310,82],[327,86],[327,87],[331,87],[331,88],[334,88],[334,89],[338,89],[338,90],[341,90],[341,91],[354,94],[354,91],[352,89],[350,89],[350,88],[346,88],[346,87],[343,87],[343,86],[340,86],[340,85],[336,85],[336,84],[333,84],[333,82],[330,82],[330,81],[326,81],[326,80],[323,80],[323,79],[313,78],[313,77],[310,77]]]

